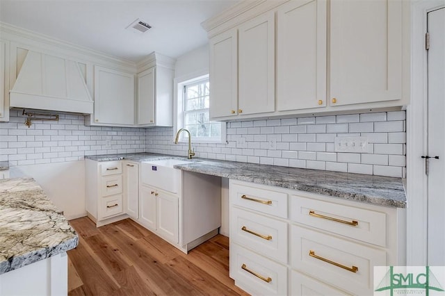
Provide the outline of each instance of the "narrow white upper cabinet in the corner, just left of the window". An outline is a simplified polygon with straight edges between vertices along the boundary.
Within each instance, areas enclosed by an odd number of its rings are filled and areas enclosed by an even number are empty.
[[[152,53],[138,65],[138,126],[173,126],[175,62]]]

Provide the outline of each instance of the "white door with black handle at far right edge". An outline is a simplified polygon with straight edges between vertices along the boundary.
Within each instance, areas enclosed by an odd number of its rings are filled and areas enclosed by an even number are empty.
[[[445,8],[428,13],[428,33],[428,265],[445,265]]]

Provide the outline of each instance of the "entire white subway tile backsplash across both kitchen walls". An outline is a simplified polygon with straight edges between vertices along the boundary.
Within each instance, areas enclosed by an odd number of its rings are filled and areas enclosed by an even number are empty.
[[[192,139],[192,145],[201,158],[405,176],[405,117],[405,111],[391,111],[228,122],[227,143]],[[17,111],[11,110],[10,122],[0,123],[0,160],[22,165],[144,151],[186,156],[186,143],[173,144],[172,128],[85,126],[83,122],[80,115],[60,115],[58,123],[33,122],[28,129]],[[336,136],[367,137],[367,153],[335,152]],[[246,145],[236,147],[241,137]],[[105,146],[106,140],[111,140],[111,147]],[[275,140],[275,149],[268,149],[269,140]]]

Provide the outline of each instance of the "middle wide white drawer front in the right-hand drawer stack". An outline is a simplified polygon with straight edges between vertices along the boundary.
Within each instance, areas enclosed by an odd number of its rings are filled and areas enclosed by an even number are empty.
[[[386,265],[386,252],[381,249],[366,247],[296,225],[291,227],[291,254],[291,265],[296,270],[333,286],[343,287],[357,295],[373,294],[373,267]],[[331,263],[323,261],[322,258]],[[357,271],[346,268],[357,268]]]

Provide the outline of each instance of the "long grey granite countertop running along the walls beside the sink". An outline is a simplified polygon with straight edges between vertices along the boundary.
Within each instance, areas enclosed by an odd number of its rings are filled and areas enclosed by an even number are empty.
[[[137,162],[154,161],[163,158],[187,159],[163,154],[118,154],[113,156],[86,156],[86,158],[94,161],[125,159]],[[355,202],[406,208],[405,187],[401,178],[279,167],[275,165],[258,165],[255,163],[238,163],[234,161],[216,161],[202,158],[193,158],[191,163],[175,165],[175,168],[189,172],[211,174],[229,179],[329,195]]]

